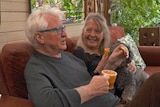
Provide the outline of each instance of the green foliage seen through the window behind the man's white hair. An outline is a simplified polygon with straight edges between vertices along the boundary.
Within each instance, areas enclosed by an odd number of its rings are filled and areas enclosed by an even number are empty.
[[[37,6],[35,5],[36,2],[38,2],[38,0],[31,0],[32,10],[37,8]],[[49,5],[51,7],[58,6],[62,11],[66,11],[66,18],[74,19],[73,22],[81,22],[83,20],[82,0],[43,0],[43,5]]]

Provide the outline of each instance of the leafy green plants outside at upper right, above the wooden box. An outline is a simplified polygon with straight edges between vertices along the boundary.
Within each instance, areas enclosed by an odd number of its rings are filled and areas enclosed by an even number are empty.
[[[140,27],[155,27],[160,22],[159,0],[112,0],[112,23],[123,26],[136,44]]]

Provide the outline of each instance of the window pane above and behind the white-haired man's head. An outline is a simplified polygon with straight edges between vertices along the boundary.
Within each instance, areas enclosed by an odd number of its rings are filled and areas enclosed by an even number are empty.
[[[83,21],[83,0],[31,0],[31,12],[37,8],[58,7],[65,15],[64,23]]]

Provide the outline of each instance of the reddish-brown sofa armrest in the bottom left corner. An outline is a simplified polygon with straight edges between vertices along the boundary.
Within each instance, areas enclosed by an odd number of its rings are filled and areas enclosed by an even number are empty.
[[[2,96],[0,99],[0,107],[34,107],[30,100],[12,97]]]

